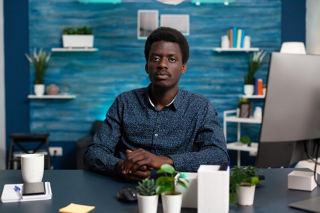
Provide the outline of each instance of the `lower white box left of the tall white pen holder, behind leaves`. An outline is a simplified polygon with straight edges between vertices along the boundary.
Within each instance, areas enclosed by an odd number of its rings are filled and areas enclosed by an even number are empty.
[[[184,172],[186,174],[187,181],[184,181],[187,185],[187,188],[179,186],[177,191],[182,193],[182,208],[197,208],[197,199],[198,199],[198,173],[196,172]],[[176,175],[176,177],[179,174]],[[183,180],[182,180],[183,181]]]

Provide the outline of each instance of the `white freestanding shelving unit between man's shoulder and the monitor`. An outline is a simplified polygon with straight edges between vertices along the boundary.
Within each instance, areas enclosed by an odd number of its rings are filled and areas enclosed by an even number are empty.
[[[238,123],[237,128],[237,141],[234,141],[232,143],[227,143],[226,148],[229,150],[237,150],[237,165],[241,165],[241,151],[249,152],[249,155],[256,156],[258,152],[258,146],[259,144],[257,142],[252,142],[251,146],[244,145],[240,142],[241,138],[241,123],[249,123],[249,124],[261,124],[262,119],[255,119],[254,117],[238,117],[236,116],[237,110],[226,110],[223,111],[223,133],[226,140],[226,124],[227,122],[233,122]]]

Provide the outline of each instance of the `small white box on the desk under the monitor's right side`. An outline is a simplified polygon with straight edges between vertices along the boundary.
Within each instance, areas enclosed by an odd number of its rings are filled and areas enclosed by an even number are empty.
[[[292,171],[288,174],[288,189],[312,191],[317,186],[313,172]]]

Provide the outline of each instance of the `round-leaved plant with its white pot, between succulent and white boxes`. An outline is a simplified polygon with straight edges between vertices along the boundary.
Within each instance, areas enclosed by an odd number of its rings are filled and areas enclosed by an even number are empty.
[[[164,213],[180,213],[182,194],[177,191],[177,187],[180,185],[187,188],[186,183],[182,181],[185,176],[176,171],[170,164],[163,164],[157,173],[165,174],[165,176],[156,179],[155,190],[157,195],[161,195]],[[189,182],[187,179],[184,180]]]

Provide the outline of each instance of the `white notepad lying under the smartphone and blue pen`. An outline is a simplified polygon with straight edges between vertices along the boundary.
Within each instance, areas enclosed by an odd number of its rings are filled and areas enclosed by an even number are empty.
[[[25,201],[35,201],[35,200],[51,200],[52,199],[52,191],[50,182],[44,182],[45,186],[45,194],[44,195],[27,195],[22,196],[20,199],[17,192],[14,190],[15,186],[22,188],[23,183],[19,184],[5,184],[4,190],[1,195],[1,202],[10,203],[10,202],[25,202]]]

